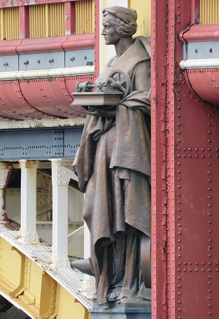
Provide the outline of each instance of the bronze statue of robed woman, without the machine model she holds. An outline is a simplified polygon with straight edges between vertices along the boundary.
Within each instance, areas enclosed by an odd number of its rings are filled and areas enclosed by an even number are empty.
[[[150,238],[151,228],[150,43],[146,37],[132,37],[136,21],[134,9],[103,10],[102,35],[106,45],[115,46],[116,56],[95,83],[119,69],[130,76],[131,92],[117,106],[85,108],[73,162],[79,187],[86,193],[83,218],[92,242],[89,264],[78,268],[89,272],[89,266],[95,275],[99,305],[150,300],[140,251],[142,237]]]

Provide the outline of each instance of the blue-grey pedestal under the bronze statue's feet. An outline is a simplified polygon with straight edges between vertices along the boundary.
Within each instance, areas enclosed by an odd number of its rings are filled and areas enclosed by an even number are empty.
[[[88,310],[91,319],[151,319],[146,308],[93,308]]]

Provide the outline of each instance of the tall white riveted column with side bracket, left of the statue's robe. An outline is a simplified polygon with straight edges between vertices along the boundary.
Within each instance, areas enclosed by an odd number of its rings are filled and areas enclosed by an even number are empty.
[[[72,160],[52,161],[53,185],[53,251],[52,266],[71,269],[68,258],[68,185],[70,178],[76,179],[74,172],[65,167],[72,166]],[[65,165],[65,166],[64,166]]]

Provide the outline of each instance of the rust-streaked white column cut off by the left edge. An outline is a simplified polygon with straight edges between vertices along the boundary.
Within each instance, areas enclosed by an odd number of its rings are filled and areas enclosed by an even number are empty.
[[[0,222],[4,223],[7,219],[5,211],[5,191],[11,173],[11,165],[0,162]]]

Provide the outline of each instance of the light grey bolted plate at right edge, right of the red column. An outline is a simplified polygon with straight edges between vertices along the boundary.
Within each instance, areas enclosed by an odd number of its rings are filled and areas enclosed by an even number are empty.
[[[185,45],[185,44],[184,44]],[[218,59],[219,41],[187,42],[187,56],[184,59]]]

